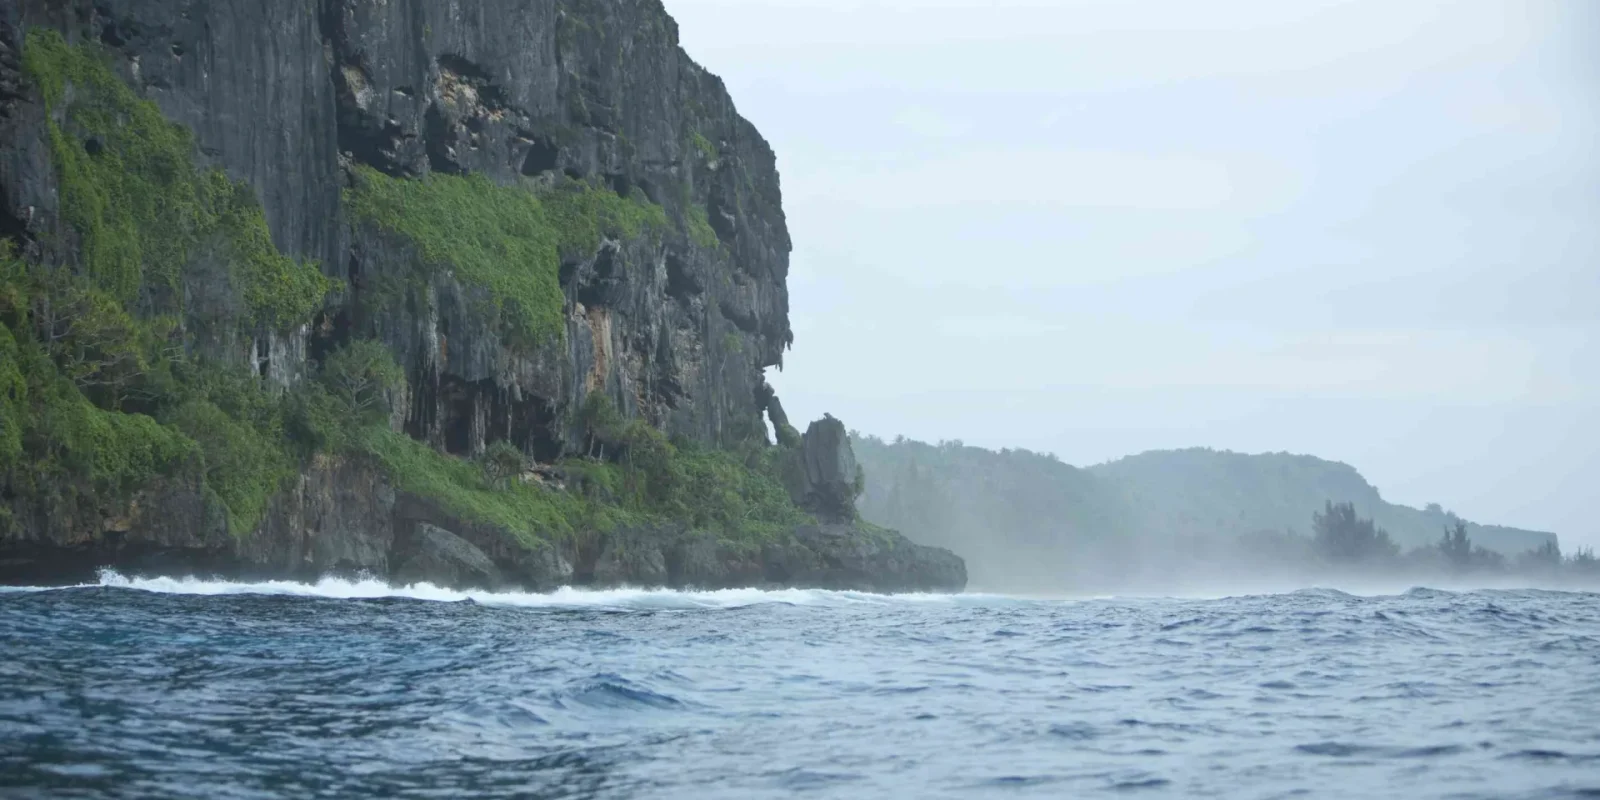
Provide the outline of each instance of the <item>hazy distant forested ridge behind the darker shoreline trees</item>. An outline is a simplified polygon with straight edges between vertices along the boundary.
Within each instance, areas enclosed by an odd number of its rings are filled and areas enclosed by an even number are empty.
[[[1386,502],[1346,464],[1285,453],[1154,451],[1078,469],[958,442],[858,435],[854,451],[867,475],[862,517],[955,550],[978,584],[1056,581],[1064,570],[1138,573],[1163,560],[1216,557],[1224,542],[1259,550],[1309,541],[1312,515],[1328,502],[1352,504],[1402,550],[1434,547],[1464,522],[1438,506]],[[1510,557],[1557,542],[1552,533],[1466,525],[1475,547]]]

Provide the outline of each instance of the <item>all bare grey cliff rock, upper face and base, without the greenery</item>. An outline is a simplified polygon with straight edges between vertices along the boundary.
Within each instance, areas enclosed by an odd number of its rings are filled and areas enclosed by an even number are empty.
[[[194,133],[200,166],[253,190],[278,251],[341,286],[309,325],[213,334],[237,309],[190,280],[179,322],[192,352],[290,390],[328,352],[376,339],[408,387],[392,427],[462,458],[499,442],[541,462],[581,453],[579,408],[592,395],[706,446],[760,438],[763,411],[792,432],[762,376],[794,341],[776,158],[722,82],[682,51],[659,0],[0,3],[0,237],[69,269],[85,245],[51,160],[61,115],[24,69],[35,29],[102,51],[138,96]],[[93,155],[99,144],[82,147]],[[530,190],[579,182],[659,208],[667,226],[563,248],[563,330],[515,342],[482,312],[483,286],[354,211],[363,174],[472,174]],[[800,499],[846,523],[854,461],[843,426],[819,426],[802,445]],[[680,530],[525,541],[330,454],[286,486],[243,531],[197,480],[142,486],[128,507],[50,504],[0,485],[0,581],[80,581],[117,566],[528,589],[965,582],[949,554],[862,531],[795,531],[765,552]]]

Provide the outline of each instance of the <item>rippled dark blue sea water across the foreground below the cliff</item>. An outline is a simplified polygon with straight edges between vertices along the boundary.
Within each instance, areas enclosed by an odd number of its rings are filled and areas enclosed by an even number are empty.
[[[0,594],[0,795],[1600,797],[1600,595]]]

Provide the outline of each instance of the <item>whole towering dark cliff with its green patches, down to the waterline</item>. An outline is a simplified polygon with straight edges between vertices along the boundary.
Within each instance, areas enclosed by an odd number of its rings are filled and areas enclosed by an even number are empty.
[[[21,275],[0,302],[21,365],[0,406],[19,442],[5,579],[120,565],[957,587],[942,566],[920,576],[942,557],[904,539],[883,539],[904,563],[829,578],[837,554],[765,488],[734,498],[766,509],[742,541],[736,515],[683,509],[680,466],[637,466],[674,438],[778,469],[750,448],[781,414],[762,371],[792,342],[774,155],[658,0],[19,0],[0,8],[0,142]],[[139,368],[117,371],[104,336],[82,346],[56,322],[69,299],[157,344],[125,347]],[[459,464],[328,445],[344,435],[302,389],[339,395],[325,365],[355,342],[403,373],[382,392],[390,432],[440,458],[509,446],[515,491],[587,486],[589,517],[510,520]],[[259,387],[224,392],[206,370]],[[365,408],[347,394],[333,416]],[[602,408],[661,435],[600,426]],[[101,427],[112,448],[80,435]],[[323,432],[274,443],[301,427]],[[125,445],[139,456],[93,453]],[[581,456],[627,488],[533,467]]]

